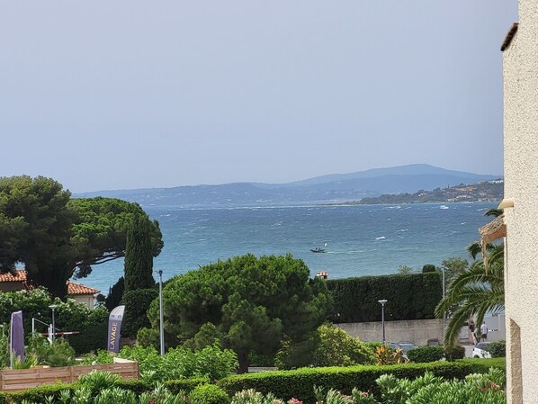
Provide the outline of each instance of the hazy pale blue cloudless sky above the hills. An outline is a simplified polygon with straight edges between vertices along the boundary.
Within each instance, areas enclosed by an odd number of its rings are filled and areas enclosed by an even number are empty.
[[[0,176],[73,192],[502,173],[516,0],[0,0]]]

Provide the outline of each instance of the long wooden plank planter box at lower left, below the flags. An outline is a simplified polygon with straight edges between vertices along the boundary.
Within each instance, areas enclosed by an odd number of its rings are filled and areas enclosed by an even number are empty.
[[[78,376],[93,370],[119,374],[123,379],[139,378],[139,363],[114,358],[113,364],[87,366],[32,367],[30,369],[4,369],[0,371],[0,391],[22,391],[56,382],[76,382]]]

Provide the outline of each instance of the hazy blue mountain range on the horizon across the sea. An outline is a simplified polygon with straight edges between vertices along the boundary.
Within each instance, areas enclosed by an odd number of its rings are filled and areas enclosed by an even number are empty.
[[[173,188],[78,193],[75,197],[109,196],[142,206],[237,207],[341,203],[382,194],[416,193],[459,184],[498,179],[423,164],[333,174],[288,184],[234,183]]]

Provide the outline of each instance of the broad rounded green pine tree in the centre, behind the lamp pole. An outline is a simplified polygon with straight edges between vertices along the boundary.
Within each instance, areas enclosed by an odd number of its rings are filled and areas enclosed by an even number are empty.
[[[284,337],[293,344],[311,339],[331,305],[324,281],[309,279],[309,268],[291,255],[248,254],[205,265],[169,280],[163,294],[170,345],[211,323],[238,354],[240,372],[251,350],[274,354]],[[156,301],[148,317],[158,329]]]

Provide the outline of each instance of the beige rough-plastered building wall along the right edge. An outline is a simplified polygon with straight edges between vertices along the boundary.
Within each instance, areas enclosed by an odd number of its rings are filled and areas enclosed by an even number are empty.
[[[519,1],[503,54],[508,403],[538,403],[538,2]]]

